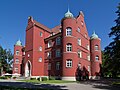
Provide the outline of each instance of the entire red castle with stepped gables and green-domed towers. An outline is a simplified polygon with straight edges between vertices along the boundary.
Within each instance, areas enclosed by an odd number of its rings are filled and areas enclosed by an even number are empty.
[[[100,76],[100,38],[88,36],[84,14],[77,17],[69,11],[61,24],[49,29],[28,18],[25,46],[14,45],[13,75],[76,80]]]

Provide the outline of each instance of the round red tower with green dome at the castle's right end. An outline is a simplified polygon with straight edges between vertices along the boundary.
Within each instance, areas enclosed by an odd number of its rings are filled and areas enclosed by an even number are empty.
[[[102,63],[100,42],[101,39],[94,32],[90,38],[91,76],[93,79],[97,79],[100,76],[100,66]]]

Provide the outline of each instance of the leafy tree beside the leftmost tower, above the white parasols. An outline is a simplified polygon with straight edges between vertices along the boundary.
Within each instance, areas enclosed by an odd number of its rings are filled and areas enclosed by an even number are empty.
[[[10,50],[3,49],[0,46],[0,74],[11,71],[13,55]]]

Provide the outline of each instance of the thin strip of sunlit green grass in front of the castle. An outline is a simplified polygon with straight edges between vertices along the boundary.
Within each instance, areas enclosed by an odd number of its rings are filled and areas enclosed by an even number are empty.
[[[47,80],[47,81],[38,81],[38,80],[20,80],[23,82],[29,83],[45,83],[45,84],[62,84],[62,83],[73,83],[75,81],[64,81],[64,80]]]

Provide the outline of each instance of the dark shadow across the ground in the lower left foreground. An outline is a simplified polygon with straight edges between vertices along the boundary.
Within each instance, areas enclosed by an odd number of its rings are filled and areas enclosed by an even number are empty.
[[[32,84],[26,82],[0,82],[0,90],[68,90],[64,85]]]

